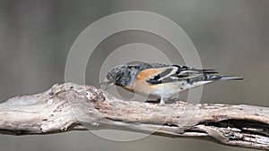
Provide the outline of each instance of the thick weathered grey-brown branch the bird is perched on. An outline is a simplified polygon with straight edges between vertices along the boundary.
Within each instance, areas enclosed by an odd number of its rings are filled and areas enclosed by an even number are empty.
[[[123,101],[74,83],[0,104],[0,133],[48,134],[117,129],[171,138],[207,138],[234,147],[269,150],[269,108],[251,105],[158,105]]]

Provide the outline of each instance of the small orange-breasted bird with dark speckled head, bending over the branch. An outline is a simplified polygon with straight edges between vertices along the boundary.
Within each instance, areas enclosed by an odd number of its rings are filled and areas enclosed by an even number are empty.
[[[116,85],[142,96],[158,96],[163,105],[182,91],[218,80],[243,80],[243,77],[223,76],[212,69],[178,64],[125,63],[108,71],[100,88],[106,90]]]

